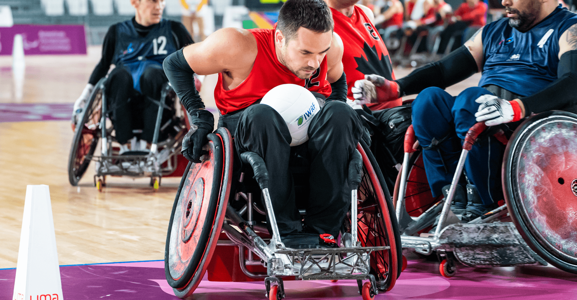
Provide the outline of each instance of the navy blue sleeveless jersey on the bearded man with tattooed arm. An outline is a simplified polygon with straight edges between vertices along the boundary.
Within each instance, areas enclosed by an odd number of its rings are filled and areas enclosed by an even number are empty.
[[[577,23],[577,14],[559,5],[524,33],[508,21],[502,18],[483,28],[484,65],[479,86],[492,84],[531,96],[557,79],[559,37]]]

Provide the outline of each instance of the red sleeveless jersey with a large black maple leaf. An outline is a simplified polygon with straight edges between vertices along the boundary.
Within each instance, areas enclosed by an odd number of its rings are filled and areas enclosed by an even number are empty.
[[[343,67],[347,76],[349,93],[347,96],[353,99],[351,87],[355,81],[365,79],[365,74],[377,74],[389,80],[395,79],[391,59],[385,43],[381,39],[379,32],[374,28],[373,22],[369,20],[361,7],[354,6],[351,17],[332,9],[332,18],[335,21],[335,32],[343,40]],[[401,104],[401,99],[383,103],[369,104],[373,111],[396,107]]]

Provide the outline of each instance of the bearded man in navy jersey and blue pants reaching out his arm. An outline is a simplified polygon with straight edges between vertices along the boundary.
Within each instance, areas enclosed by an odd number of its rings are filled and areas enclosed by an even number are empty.
[[[413,102],[413,126],[424,149],[433,196],[446,195],[462,140],[477,121],[488,126],[508,123],[503,127],[513,130],[531,113],[572,110],[577,104],[577,14],[557,0],[501,3],[507,18],[485,25],[439,62],[395,81],[375,76],[358,82],[358,102],[372,101],[374,89],[391,85],[399,89],[398,96],[419,93]],[[456,97],[443,90],[478,71],[478,87]],[[470,184],[456,189],[451,205],[462,221],[479,217],[503,199],[503,150],[494,137],[485,136],[469,152],[464,168]]]

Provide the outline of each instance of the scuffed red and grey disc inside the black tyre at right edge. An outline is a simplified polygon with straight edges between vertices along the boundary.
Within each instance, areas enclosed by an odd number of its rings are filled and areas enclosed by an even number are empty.
[[[516,153],[518,208],[540,244],[577,261],[577,123],[529,128]]]

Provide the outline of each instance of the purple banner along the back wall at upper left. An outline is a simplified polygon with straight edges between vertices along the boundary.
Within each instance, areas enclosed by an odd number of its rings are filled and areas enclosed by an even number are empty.
[[[0,27],[0,55],[12,55],[14,35],[22,35],[24,54],[86,54],[84,25]]]

